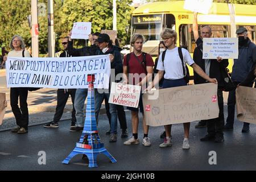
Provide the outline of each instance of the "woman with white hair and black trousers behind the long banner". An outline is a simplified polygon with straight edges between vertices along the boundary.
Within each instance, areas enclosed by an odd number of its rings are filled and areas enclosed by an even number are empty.
[[[27,51],[23,39],[19,35],[14,35],[11,38],[10,48],[11,51],[7,55],[9,57],[30,57],[30,53]],[[3,57],[3,61],[7,60],[7,56]],[[10,90],[11,110],[13,110],[16,124],[18,125],[11,129],[14,133],[24,134],[28,132],[27,94],[28,89],[24,87],[11,88]],[[18,99],[20,108],[18,106]]]

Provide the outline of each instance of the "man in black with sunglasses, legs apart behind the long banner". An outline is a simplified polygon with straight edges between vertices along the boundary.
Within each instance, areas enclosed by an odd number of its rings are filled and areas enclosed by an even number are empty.
[[[62,40],[62,45],[63,45],[64,51],[60,54],[60,57],[71,57],[71,55],[68,53],[68,36]],[[59,127],[58,122],[60,121],[60,118],[63,115],[64,107],[67,104],[69,95],[71,96],[71,100],[73,104],[71,130],[75,127],[76,110],[74,107],[74,101],[76,96],[76,89],[58,89],[57,90],[57,106],[56,106],[56,111],[53,117],[53,121],[47,123],[46,125],[44,125],[44,127],[47,127],[47,128]]]

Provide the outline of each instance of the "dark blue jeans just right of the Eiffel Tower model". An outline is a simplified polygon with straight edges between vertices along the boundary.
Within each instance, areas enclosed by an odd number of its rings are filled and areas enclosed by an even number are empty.
[[[98,92],[98,89],[95,89],[95,117],[98,125],[98,114],[100,113],[101,109],[101,104],[104,100],[109,100],[109,90],[105,90],[106,92],[102,93],[102,89],[100,90],[101,92]],[[114,104],[109,103],[109,113],[111,116],[111,122],[110,122],[110,133],[117,134],[117,108]]]

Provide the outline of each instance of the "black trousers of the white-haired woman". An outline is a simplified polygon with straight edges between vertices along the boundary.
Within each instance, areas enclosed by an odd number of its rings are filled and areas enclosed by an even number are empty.
[[[28,129],[28,108],[27,108],[27,88],[11,88],[10,99],[11,99],[11,110],[13,110],[16,124],[19,127]],[[19,105],[18,106],[18,99]]]

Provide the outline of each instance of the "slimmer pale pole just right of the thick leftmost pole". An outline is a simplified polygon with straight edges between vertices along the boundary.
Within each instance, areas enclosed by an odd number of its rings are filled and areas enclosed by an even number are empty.
[[[53,0],[48,0],[48,53],[49,57],[55,56],[55,38],[53,31]]]

